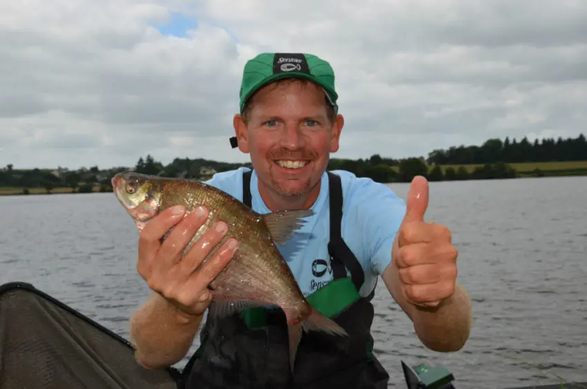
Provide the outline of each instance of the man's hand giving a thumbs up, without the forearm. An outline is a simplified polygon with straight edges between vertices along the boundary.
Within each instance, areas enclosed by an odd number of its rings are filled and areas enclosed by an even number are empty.
[[[420,307],[437,307],[456,287],[456,248],[447,227],[424,222],[428,182],[412,180],[405,218],[392,253],[406,300]]]

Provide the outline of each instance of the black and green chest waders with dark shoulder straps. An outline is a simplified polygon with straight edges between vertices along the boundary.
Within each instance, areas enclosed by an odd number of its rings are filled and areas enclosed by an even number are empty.
[[[201,345],[184,368],[186,389],[385,389],[389,375],[372,354],[374,292],[358,294],[365,281],[360,263],[340,234],[343,190],[340,177],[329,175],[330,241],[334,280],[307,296],[307,301],[341,325],[349,336],[304,332],[294,374],[289,366],[289,338],[282,310],[253,308],[208,320]],[[251,207],[251,171],[243,175],[243,202]],[[347,269],[351,276],[347,276]]]

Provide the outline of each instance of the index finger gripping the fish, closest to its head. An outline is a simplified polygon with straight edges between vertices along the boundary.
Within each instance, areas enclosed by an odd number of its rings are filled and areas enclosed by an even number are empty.
[[[139,235],[139,260],[137,271],[144,278],[153,264],[155,256],[161,245],[160,240],[167,231],[176,225],[184,216],[185,208],[182,206],[171,207],[162,211],[151,219]]]

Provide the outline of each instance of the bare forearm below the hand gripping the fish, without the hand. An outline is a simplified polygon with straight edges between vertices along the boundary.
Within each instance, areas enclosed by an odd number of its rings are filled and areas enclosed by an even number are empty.
[[[149,369],[177,363],[189,351],[201,321],[202,316],[182,314],[153,293],[131,317],[131,339],[137,361]]]

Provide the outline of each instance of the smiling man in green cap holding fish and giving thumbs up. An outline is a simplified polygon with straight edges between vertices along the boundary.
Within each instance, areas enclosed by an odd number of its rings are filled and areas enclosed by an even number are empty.
[[[371,354],[370,299],[378,276],[427,348],[459,350],[468,339],[470,300],[456,283],[450,231],[424,221],[427,181],[414,178],[405,205],[383,184],[326,171],[344,124],[337,99],[334,72],[315,55],[264,53],[251,59],[233,141],[251,155],[253,171],[218,173],[209,184],[262,214],[314,210],[279,249],[309,301],[349,336],[305,333],[292,375],[287,330],[276,311],[206,323],[202,346],[184,370],[187,388],[387,388],[389,376]],[[206,209],[185,217],[184,209],[169,209],[140,235],[137,269],[154,293],[133,315],[131,336],[146,368],[169,366],[186,355],[211,303],[206,286],[238,248],[228,240],[192,272],[227,232],[220,222],[182,258],[206,216]]]

